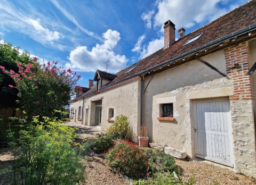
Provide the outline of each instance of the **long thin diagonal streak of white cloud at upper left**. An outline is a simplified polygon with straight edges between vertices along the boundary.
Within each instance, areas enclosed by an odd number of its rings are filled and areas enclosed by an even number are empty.
[[[100,41],[103,41],[102,38],[100,36],[98,36],[96,33],[89,31],[85,28],[83,28],[78,22],[77,20],[74,18],[73,15],[71,15],[69,12],[67,12],[65,9],[63,9],[63,7],[61,7],[59,5],[59,3],[56,0],[50,0],[71,22],[73,22],[79,29],[81,29],[84,33],[86,33],[87,35],[94,37]]]

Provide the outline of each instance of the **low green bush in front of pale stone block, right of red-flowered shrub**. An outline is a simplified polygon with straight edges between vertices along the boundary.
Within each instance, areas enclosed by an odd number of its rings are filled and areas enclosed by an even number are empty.
[[[153,155],[151,156],[156,164],[157,171],[170,171],[173,172],[175,169],[175,159],[169,154],[156,149]]]

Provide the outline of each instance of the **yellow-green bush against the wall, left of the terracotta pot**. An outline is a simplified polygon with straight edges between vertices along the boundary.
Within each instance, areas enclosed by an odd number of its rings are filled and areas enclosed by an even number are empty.
[[[133,131],[125,115],[116,116],[114,123],[108,129],[108,133],[114,140],[133,140]]]

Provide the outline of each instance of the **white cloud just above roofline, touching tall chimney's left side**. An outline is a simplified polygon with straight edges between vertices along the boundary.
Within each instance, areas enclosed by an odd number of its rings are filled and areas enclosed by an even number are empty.
[[[140,58],[145,58],[148,55],[155,53],[159,49],[163,48],[163,46],[164,46],[164,37],[150,41],[147,46],[146,45],[143,46],[143,49],[140,53]]]

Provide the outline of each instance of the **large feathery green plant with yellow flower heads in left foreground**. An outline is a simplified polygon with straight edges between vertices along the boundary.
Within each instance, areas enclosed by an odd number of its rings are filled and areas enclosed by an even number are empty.
[[[18,154],[13,163],[13,183],[57,185],[84,181],[81,156],[73,148],[79,145],[74,143],[75,129],[49,117],[44,119],[42,123],[35,118],[34,125],[21,130],[19,138],[11,142]]]

